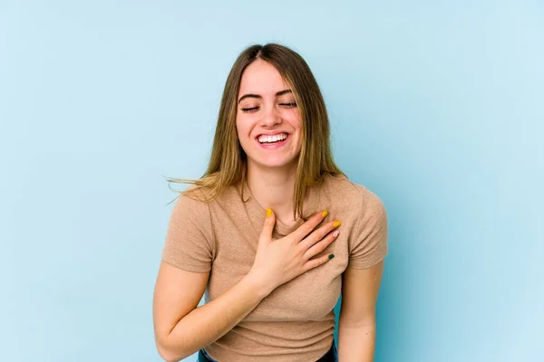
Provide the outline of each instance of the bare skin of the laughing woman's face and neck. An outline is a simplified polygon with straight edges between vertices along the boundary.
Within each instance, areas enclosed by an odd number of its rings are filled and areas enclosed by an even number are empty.
[[[244,71],[238,92],[237,130],[248,155],[248,186],[257,202],[274,210],[283,224],[294,224],[293,193],[296,164],[302,148],[302,119],[292,93],[277,69],[257,60]],[[246,97],[248,94],[261,98]],[[243,99],[242,99],[243,98]],[[240,100],[242,99],[242,100]],[[281,148],[262,148],[260,134],[287,132]]]

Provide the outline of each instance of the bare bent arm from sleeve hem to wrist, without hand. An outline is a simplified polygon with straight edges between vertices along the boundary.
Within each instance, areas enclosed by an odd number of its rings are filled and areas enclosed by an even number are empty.
[[[179,361],[221,338],[267,296],[248,274],[218,299],[197,308],[208,272],[183,271],[161,262],[153,297],[155,341],[160,357]]]

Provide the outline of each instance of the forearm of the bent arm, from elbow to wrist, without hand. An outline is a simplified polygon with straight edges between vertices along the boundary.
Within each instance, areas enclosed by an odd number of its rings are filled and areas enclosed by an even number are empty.
[[[271,291],[248,274],[216,300],[180,319],[162,341],[160,355],[179,361],[218,340],[244,319]]]

